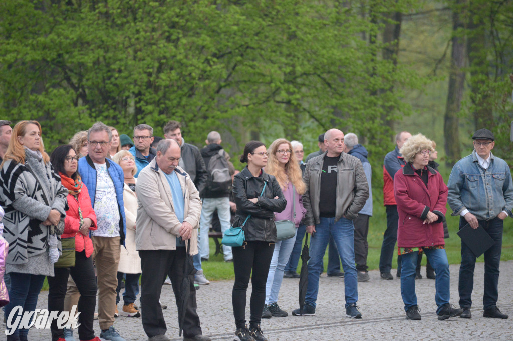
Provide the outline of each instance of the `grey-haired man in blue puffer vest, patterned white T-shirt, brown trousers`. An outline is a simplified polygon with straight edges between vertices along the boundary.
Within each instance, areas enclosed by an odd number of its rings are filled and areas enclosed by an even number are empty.
[[[96,213],[96,231],[90,232],[92,257],[98,277],[98,323],[105,340],[125,341],[114,329],[117,266],[125,245],[126,220],[123,204],[123,170],[107,159],[112,132],[102,122],[94,123],[87,132],[88,155],[78,160],[78,172],[87,187]]]

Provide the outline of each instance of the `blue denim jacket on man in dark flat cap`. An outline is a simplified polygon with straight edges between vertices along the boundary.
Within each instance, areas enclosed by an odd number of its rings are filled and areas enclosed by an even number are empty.
[[[479,165],[476,151],[458,161],[452,168],[447,186],[447,202],[452,216],[458,216],[468,209],[479,220],[495,219],[502,211],[512,217],[511,172],[507,163],[493,154],[488,169]]]

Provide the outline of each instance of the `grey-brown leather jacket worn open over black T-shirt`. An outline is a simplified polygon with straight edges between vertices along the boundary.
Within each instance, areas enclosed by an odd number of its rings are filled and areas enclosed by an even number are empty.
[[[302,197],[303,206],[306,209],[303,224],[306,226],[320,224],[321,172],[326,154],[327,152],[324,152],[323,155],[310,159],[306,164],[303,176],[306,192]],[[369,198],[369,185],[362,162],[354,156],[342,153],[337,163],[337,172],[335,221],[339,221],[342,216],[354,220],[358,218],[358,212]]]

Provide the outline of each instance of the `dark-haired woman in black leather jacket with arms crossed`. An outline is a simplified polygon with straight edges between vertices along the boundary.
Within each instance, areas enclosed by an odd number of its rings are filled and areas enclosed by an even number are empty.
[[[273,176],[264,173],[269,154],[262,142],[251,141],[244,147],[241,162],[247,167],[233,180],[233,197],[237,205],[237,216],[233,226],[244,225],[245,242],[241,247],[233,247],[233,268],[235,283],[232,292],[233,315],[237,330],[235,341],[267,341],[260,329],[260,319],[265,303],[265,284],[271,264],[276,227],[274,212],[285,209],[287,201],[280,185]],[[262,196],[262,189],[265,189]],[[251,275],[249,330],[246,325],[246,291]]]

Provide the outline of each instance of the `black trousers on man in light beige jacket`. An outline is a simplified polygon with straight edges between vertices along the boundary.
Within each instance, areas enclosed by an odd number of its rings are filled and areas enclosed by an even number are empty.
[[[176,251],[156,250],[139,251],[141,258],[141,319],[146,335],[153,337],[164,335],[167,331],[166,321],[159,303],[162,285],[169,276],[173,286],[176,304],[179,302],[179,293],[184,278],[184,263],[186,257],[185,247],[178,247]],[[196,290],[194,289],[194,275],[189,276],[190,297],[184,319],[184,337],[193,338],[201,335],[200,317],[196,313]],[[176,328],[178,329],[178,328]]]

